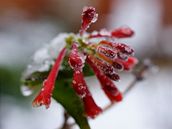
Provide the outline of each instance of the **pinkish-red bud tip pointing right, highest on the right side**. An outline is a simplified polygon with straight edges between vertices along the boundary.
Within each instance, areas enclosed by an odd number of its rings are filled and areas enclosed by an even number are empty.
[[[121,27],[113,30],[111,35],[116,38],[128,38],[134,35],[134,31],[129,27]]]

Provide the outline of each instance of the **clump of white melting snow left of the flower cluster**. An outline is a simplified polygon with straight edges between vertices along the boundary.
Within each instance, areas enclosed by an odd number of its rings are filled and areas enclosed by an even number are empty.
[[[54,59],[56,59],[58,53],[65,46],[65,38],[68,35],[67,33],[61,33],[49,44],[45,44],[42,48],[37,50],[32,57],[33,62],[27,66],[24,76],[26,77],[36,71],[48,71],[50,66],[54,64]]]

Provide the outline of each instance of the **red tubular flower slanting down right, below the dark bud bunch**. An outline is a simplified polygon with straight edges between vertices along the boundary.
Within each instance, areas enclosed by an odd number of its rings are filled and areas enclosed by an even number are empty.
[[[122,100],[122,94],[117,89],[115,84],[107,77],[105,76],[94,63],[90,59],[91,57],[87,58],[87,63],[91,66],[94,73],[96,74],[103,91],[107,95],[107,97],[111,100],[111,102],[114,101],[121,101]]]

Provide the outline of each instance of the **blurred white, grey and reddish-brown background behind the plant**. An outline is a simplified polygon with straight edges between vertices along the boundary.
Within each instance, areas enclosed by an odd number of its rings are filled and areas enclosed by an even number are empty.
[[[33,53],[60,32],[78,32],[83,6],[99,14],[92,30],[129,26],[136,34],[121,40],[136,56],[150,58],[158,73],[148,75],[123,102],[91,120],[92,129],[172,129],[172,1],[171,0],[0,0],[0,129],[56,129],[62,107],[34,109],[34,96],[24,97],[20,77]],[[94,79],[94,78],[93,78]],[[95,79],[94,79],[95,80]],[[124,89],[132,76],[122,75]],[[89,85],[98,82],[87,80]],[[99,91],[90,87],[98,104]],[[77,127],[75,127],[77,128]]]

